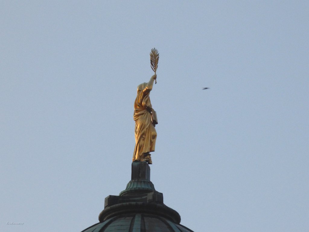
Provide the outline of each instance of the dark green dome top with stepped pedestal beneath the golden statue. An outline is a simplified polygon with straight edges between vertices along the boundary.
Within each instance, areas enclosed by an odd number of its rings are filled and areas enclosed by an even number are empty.
[[[82,232],[193,232],[180,225],[180,215],[163,204],[163,194],[150,181],[146,162],[133,162],[131,180],[119,196],[105,198],[99,223]]]

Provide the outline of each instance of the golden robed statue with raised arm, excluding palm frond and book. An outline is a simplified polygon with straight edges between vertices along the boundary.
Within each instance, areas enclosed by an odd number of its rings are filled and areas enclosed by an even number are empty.
[[[134,121],[135,121],[135,149],[133,161],[146,161],[152,164],[150,152],[155,151],[155,140],[157,132],[152,123],[152,106],[150,103],[150,91],[157,75],[153,75],[148,83],[138,85],[137,96],[134,102]]]

